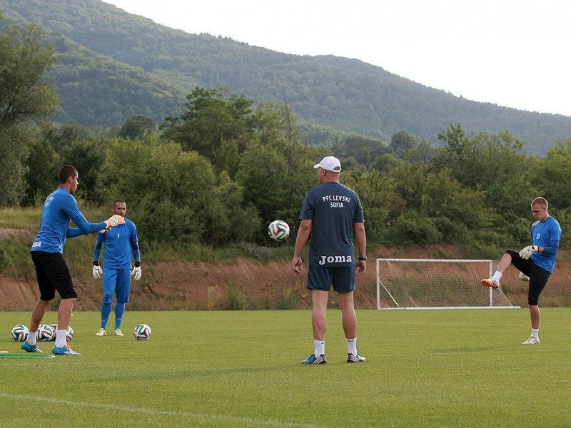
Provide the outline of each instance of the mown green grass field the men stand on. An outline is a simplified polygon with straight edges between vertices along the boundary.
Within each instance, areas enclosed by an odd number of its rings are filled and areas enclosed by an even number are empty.
[[[10,330],[29,316],[0,312],[0,350],[19,352]],[[125,337],[95,337],[99,314],[76,312],[70,344],[83,357],[0,359],[0,426],[571,426],[571,308],[542,310],[532,346],[520,345],[527,309],[358,318],[367,362],[345,362],[330,310],[328,364],[305,366],[310,311],[126,312]],[[139,322],[151,340],[133,339]]]

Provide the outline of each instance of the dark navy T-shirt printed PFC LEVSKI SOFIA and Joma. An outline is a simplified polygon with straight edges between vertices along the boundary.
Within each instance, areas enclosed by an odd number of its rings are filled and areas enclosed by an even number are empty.
[[[355,191],[336,181],[308,190],[299,215],[312,220],[309,265],[346,267],[355,264],[353,229],[363,223],[363,207]]]

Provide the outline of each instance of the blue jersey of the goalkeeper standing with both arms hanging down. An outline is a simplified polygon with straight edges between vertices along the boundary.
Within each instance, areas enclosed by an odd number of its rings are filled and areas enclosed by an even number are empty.
[[[99,260],[101,245],[105,245],[103,267],[131,269],[131,253],[133,253],[136,262],[141,261],[141,255],[138,250],[137,228],[135,223],[127,218],[124,225],[117,225],[108,232],[97,234],[94,260]]]

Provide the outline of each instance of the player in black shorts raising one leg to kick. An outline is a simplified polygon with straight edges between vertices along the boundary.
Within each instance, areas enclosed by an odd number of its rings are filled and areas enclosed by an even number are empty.
[[[520,279],[530,281],[527,304],[530,307],[531,335],[522,345],[540,343],[540,307],[537,303],[553,273],[561,239],[561,226],[549,215],[548,208],[549,204],[545,198],[537,197],[532,200],[531,212],[537,220],[531,226],[532,245],[522,248],[519,252],[506,250],[494,275],[482,280],[482,285],[498,288],[505,270],[514,265],[520,270]]]

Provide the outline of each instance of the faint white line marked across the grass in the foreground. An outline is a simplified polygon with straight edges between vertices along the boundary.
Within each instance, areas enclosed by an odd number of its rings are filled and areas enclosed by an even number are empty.
[[[0,397],[9,398],[9,399],[25,399],[25,400],[34,400],[39,402],[49,402],[52,404],[65,404],[66,406],[82,406],[82,407],[91,407],[95,409],[120,410],[122,412],[131,412],[131,413],[146,413],[156,416],[188,417],[188,418],[207,419],[211,421],[223,421],[223,422],[243,422],[246,424],[268,425],[270,427],[326,428],[324,425],[296,424],[295,422],[281,422],[269,419],[252,419],[249,417],[224,416],[222,414],[179,412],[176,410],[148,409],[145,407],[127,407],[127,406],[117,406],[115,404],[75,402],[68,399],[36,397],[34,395],[7,394],[6,392],[0,392]]]

